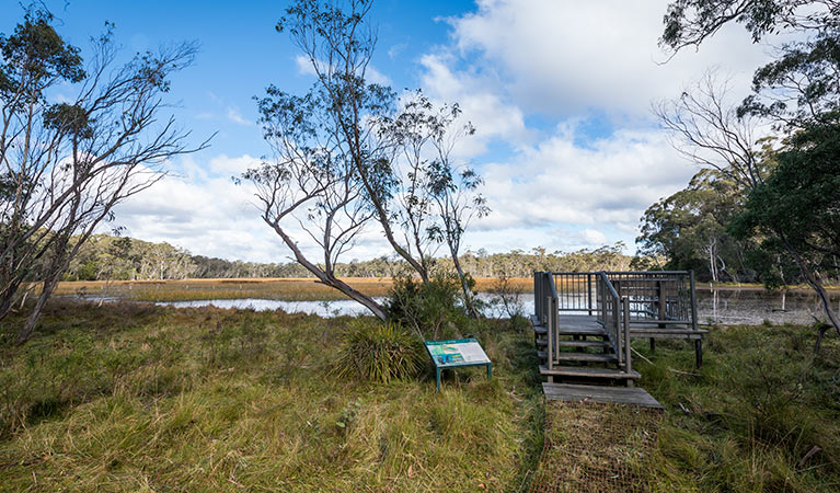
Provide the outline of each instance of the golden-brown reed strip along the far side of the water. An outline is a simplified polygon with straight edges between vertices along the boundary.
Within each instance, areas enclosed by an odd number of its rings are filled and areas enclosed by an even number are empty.
[[[388,296],[390,278],[350,277],[344,279],[368,296]],[[497,280],[476,279],[476,289],[486,291]],[[517,288],[533,291],[533,279],[511,279]],[[136,301],[192,301],[199,299],[278,299],[321,301],[347,299],[340,291],[315,283],[312,278],[239,278],[184,280],[80,280],[59,283],[57,295],[107,296]]]

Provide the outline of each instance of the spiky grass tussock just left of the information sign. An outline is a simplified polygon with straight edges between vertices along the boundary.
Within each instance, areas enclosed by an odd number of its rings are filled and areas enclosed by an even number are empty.
[[[419,340],[394,323],[357,320],[343,336],[335,374],[388,383],[423,368]]]

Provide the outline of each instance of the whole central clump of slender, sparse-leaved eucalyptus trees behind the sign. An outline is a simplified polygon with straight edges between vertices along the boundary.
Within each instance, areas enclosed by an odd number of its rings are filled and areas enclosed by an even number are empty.
[[[315,81],[303,95],[269,87],[257,100],[273,156],[243,177],[256,186],[263,220],[296,261],[384,319],[376,300],[337,277],[336,265],[376,225],[428,282],[444,239],[433,232],[442,221],[433,190],[442,190],[433,181],[441,165],[436,142],[460,134],[450,131],[454,118],[445,117],[457,116],[457,106],[438,110],[422,93],[400,102],[390,88],[368,81],[377,41],[366,19],[370,8],[369,0],[299,0],[286,9],[276,28],[290,35]],[[314,248],[301,246],[302,238]]]

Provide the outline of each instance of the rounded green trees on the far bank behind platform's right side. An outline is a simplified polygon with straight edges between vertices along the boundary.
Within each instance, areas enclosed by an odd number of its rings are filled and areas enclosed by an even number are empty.
[[[636,239],[642,256],[634,267],[693,270],[698,279],[714,283],[808,284],[779,240],[745,228],[749,198],[727,173],[700,171],[686,188],[647,208]],[[818,253],[816,275],[840,285],[840,256],[831,249]]]

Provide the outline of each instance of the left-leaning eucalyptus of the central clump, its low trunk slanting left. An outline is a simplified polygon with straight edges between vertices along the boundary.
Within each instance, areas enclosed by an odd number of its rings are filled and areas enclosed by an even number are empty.
[[[366,1],[322,5],[313,0],[286,9],[276,30],[289,33],[317,81],[302,96],[272,85],[257,100],[273,159],[243,177],[256,186],[263,220],[295,260],[321,283],[384,319],[376,300],[335,274],[341,255],[382,214],[369,197],[388,186],[381,172],[388,168],[388,151],[372,122],[393,112],[394,94],[366,80],[376,44],[365,22],[369,10]],[[318,251],[306,251],[300,238],[314,242]]]

